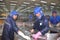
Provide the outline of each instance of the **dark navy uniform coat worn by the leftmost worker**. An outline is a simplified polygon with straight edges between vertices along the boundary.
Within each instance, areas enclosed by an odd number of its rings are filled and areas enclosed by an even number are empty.
[[[18,30],[15,20],[9,16],[4,23],[2,40],[14,40],[14,32],[17,33]]]

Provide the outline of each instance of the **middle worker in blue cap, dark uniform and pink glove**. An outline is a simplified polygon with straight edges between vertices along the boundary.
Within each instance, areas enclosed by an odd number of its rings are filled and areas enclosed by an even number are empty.
[[[42,7],[36,7],[34,9],[34,15],[37,17],[36,21],[34,22],[33,29],[31,30],[31,33],[34,32],[32,35],[35,40],[40,35],[45,35],[49,30],[49,24],[47,18],[44,16],[44,13],[42,11]]]

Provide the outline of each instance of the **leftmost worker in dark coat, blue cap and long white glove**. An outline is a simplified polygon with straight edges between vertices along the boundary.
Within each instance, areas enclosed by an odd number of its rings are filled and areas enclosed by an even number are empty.
[[[4,23],[1,40],[14,40],[14,32],[22,36],[23,38],[30,40],[30,37],[24,35],[24,33],[21,32],[19,28],[17,27],[16,22],[15,22],[17,17],[18,17],[18,12],[16,10],[13,10],[10,12],[10,15],[7,17]]]

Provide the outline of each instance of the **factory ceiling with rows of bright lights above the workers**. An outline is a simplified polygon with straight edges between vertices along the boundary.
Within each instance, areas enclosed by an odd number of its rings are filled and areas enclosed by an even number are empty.
[[[31,13],[35,6],[41,6],[43,10],[60,10],[60,0],[0,0],[1,12],[17,10],[21,13]]]

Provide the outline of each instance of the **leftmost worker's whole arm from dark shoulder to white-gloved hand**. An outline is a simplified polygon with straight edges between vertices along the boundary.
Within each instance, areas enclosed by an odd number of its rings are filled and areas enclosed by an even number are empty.
[[[18,35],[22,36],[23,38],[30,40],[29,36],[24,35],[24,33],[19,30],[19,28],[17,27],[17,25],[14,21],[12,21],[12,20],[10,21],[10,19],[9,19],[9,20],[5,21],[5,24],[8,25],[8,29],[12,26],[14,32],[16,32]]]

